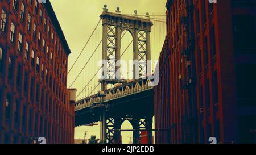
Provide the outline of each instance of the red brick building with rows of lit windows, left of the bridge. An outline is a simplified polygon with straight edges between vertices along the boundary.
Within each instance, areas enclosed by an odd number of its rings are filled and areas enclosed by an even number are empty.
[[[73,143],[71,53],[51,3],[0,2],[0,143]]]

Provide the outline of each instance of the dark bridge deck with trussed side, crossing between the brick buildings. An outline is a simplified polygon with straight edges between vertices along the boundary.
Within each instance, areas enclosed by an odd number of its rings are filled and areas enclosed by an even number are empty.
[[[153,115],[153,87],[143,81],[129,83],[109,90],[104,97],[93,95],[75,106],[75,126],[100,121],[102,109],[108,117]]]

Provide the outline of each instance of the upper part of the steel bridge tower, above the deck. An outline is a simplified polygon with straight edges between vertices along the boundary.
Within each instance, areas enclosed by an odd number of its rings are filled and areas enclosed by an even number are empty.
[[[151,74],[151,55],[150,55],[150,32],[152,22],[149,19],[139,18],[121,14],[119,7],[115,13],[108,12],[107,6],[104,5],[103,13],[100,15],[102,20],[102,80],[101,90],[104,91],[106,84],[119,83],[121,73],[121,35],[124,31],[129,31],[133,37],[133,60],[134,75],[133,79],[142,79]],[[122,83],[122,82],[121,82]]]

